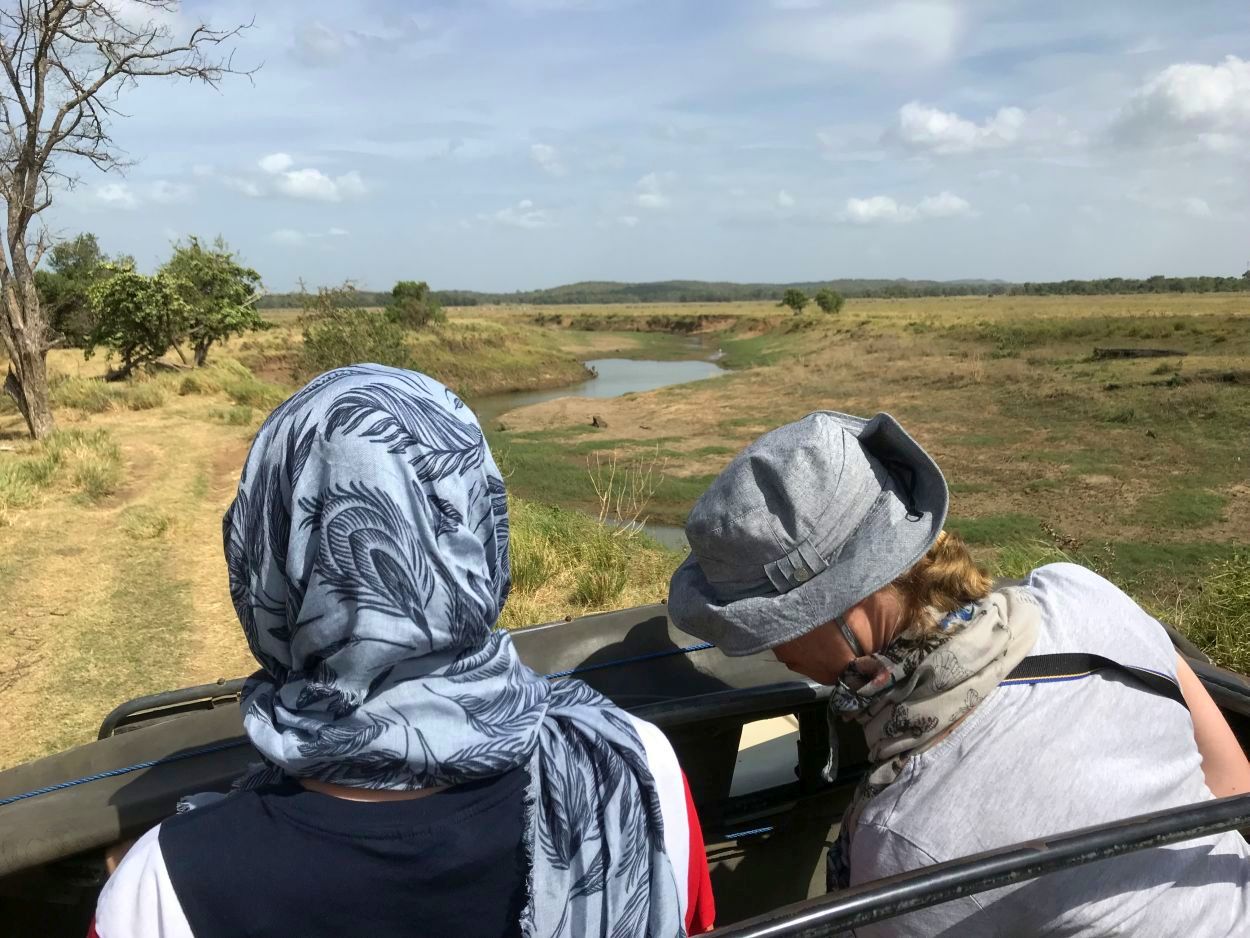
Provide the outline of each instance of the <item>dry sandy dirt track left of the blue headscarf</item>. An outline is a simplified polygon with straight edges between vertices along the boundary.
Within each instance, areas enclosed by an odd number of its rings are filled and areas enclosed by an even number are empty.
[[[120,446],[119,492],[90,507],[54,494],[11,513],[0,534],[0,768],[90,740],[125,699],[251,670],[221,554],[251,428],[209,411],[178,399],[81,421]]]

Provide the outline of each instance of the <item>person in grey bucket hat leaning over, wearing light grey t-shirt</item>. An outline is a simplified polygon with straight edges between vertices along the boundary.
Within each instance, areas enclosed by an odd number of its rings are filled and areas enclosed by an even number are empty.
[[[839,772],[831,732],[826,778],[859,782],[830,888],[1250,790],[1250,763],[1160,623],[1071,563],[995,589],[944,530],[948,507],[938,464],[892,416],[818,411],[742,450],[686,522],[672,622],[728,655],[771,650],[832,688],[831,728],[862,727],[862,773]],[[1071,662],[1098,664],[1058,673]],[[1184,847],[856,934],[1241,934],[1246,842]]]

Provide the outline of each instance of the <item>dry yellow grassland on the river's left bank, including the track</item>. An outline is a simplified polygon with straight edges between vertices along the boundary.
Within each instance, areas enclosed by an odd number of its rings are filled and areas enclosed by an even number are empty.
[[[421,336],[425,366],[466,394],[582,376],[545,330],[505,334],[452,323]],[[256,426],[292,390],[282,349],[294,343],[288,320],[206,368],[115,384],[99,380],[102,363],[54,351],[60,429],[39,444],[0,403],[0,768],[88,742],[124,699],[255,668],[230,605],[221,513]],[[575,368],[526,371],[539,358]],[[678,558],[645,535],[522,500],[512,514],[505,625],[662,598]]]

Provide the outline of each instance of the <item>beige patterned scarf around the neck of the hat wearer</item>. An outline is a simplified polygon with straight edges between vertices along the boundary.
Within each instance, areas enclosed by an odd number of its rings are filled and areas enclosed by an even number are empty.
[[[868,800],[889,788],[914,753],[971,713],[1024,660],[1038,639],[1040,620],[1032,595],[1010,587],[951,613],[936,629],[914,627],[884,652],[851,662],[829,699],[830,720],[838,715],[864,727],[871,768],[855,789],[838,843],[829,850],[831,888],[850,885],[851,840]]]

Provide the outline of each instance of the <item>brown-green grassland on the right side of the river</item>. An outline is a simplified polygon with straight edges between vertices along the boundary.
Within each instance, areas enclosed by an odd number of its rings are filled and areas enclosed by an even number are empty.
[[[588,329],[596,308],[561,314]],[[646,328],[654,315],[598,314],[614,329],[622,318]],[[515,492],[576,502],[586,459],[615,451],[664,465],[652,513],[679,522],[764,430],[818,409],[884,410],[944,468],[951,527],[991,564],[1022,547],[1062,550],[1175,619],[1200,578],[1250,544],[1250,296],[851,300],[832,319],[726,304],[666,315],[689,316],[694,334],[710,329],[738,370],[505,415],[494,445]],[[1184,354],[1094,358],[1121,346]],[[609,429],[591,428],[591,413]],[[1250,655],[1224,660],[1250,669]]]

